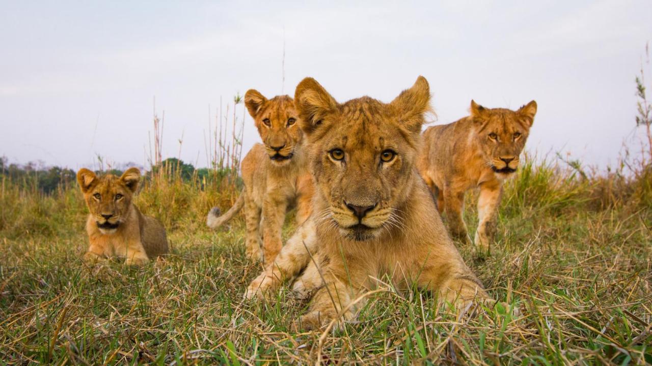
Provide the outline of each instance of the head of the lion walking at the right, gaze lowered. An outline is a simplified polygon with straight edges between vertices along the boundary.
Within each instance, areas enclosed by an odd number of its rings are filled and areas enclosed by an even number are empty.
[[[488,109],[471,100],[471,118],[476,126],[475,139],[485,164],[504,177],[518,169],[521,151],[537,113],[534,100],[517,111],[505,108]]]

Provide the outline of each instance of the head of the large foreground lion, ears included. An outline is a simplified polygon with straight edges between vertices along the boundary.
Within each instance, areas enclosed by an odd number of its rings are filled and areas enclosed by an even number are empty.
[[[424,77],[389,104],[366,96],[338,104],[314,79],[299,83],[295,104],[327,204],[318,221],[353,240],[372,240],[400,225],[429,101]]]

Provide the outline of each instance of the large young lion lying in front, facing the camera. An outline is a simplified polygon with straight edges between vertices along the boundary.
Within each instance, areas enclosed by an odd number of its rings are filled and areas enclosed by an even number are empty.
[[[368,96],[339,104],[308,77],[295,105],[316,188],[313,214],[244,297],[264,296],[304,270],[295,283],[312,294],[295,322],[303,329],[355,317],[364,293],[388,277],[398,289],[415,283],[457,306],[488,300],[415,167],[428,81],[420,76],[389,104]]]

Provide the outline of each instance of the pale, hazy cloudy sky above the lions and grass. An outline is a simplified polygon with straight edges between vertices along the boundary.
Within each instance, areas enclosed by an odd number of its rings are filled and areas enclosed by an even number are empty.
[[[164,158],[206,166],[220,99],[293,95],[312,76],[340,102],[389,102],[422,75],[432,124],[466,116],[471,99],[536,100],[529,152],[605,166],[640,134],[634,77],[650,40],[647,0],[2,0],[0,156],[145,165],[155,98]],[[259,137],[244,117],[246,152]]]

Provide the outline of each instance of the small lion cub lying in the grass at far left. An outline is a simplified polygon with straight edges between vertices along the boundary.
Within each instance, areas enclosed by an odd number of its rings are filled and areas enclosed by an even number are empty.
[[[90,246],[84,255],[87,262],[121,257],[126,265],[139,266],[168,253],[163,225],[141,214],[132,203],[139,180],[140,170],[135,167],[120,177],[98,177],[85,168],[78,171],[77,182],[89,210],[86,231]]]

